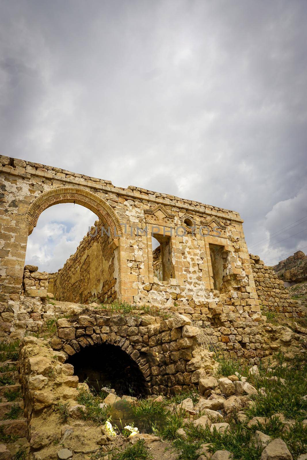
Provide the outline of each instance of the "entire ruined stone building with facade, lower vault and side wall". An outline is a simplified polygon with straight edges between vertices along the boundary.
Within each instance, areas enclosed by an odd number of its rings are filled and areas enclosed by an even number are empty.
[[[87,345],[117,344],[142,368],[150,391],[168,392],[200,378],[196,333],[181,330],[186,320],[170,329],[170,320],[158,315],[105,318],[95,306],[117,300],[136,311],[148,305],[184,314],[224,353],[252,364],[279,340],[264,327],[266,311],[306,314],[271,268],[249,254],[236,211],[6,156],[0,164],[1,339],[22,339],[65,309],[82,312],[92,304],[90,318],[58,320],[54,350],[73,356]],[[97,215],[90,234],[57,273],[24,267],[27,239],[41,213],[67,202]],[[160,243],[154,251],[152,235]]]

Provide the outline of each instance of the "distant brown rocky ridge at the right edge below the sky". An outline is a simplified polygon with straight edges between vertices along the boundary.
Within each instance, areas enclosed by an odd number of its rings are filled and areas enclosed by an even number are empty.
[[[278,278],[285,282],[294,284],[307,281],[307,256],[302,251],[296,251],[293,256],[281,260],[272,268]]]

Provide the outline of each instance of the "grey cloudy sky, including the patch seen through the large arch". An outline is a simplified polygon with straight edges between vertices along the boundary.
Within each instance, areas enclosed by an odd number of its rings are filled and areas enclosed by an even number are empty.
[[[307,251],[306,0],[1,0],[1,153],[239,211],[268,265]],[[95,216],[58,205],[56,270]]]

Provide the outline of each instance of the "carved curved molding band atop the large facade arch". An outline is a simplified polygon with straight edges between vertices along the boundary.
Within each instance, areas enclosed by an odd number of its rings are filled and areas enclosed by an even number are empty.
[[[113,209],[104,200],[87,190],[68,187],[49,190],[30,204],[26,216],[29,221],[29,235],[32,233],[34,227],[36,227],[41,213],[48,207],[59,203],[76,203],[87,207],[93,211],[102,222],[110,227],[112,239],[116,239],[117,236],[122,236],[122,227],[119,219]]]

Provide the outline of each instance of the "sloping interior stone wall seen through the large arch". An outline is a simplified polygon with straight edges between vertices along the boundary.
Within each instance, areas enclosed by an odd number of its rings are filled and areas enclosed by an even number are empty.
[[[97,235],[87,233],[64,267],[54,274],[55,299],[75,303],[89,303],[94,298],[101,302],[116,299],[115,251],[108,235],[101,234],[102,222],[97,221],[95,225]]]

